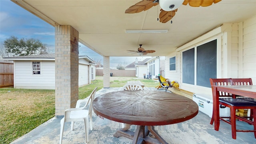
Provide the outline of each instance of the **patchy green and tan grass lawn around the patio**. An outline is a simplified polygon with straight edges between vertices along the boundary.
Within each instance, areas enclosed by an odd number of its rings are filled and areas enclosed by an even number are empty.
[[[154,80],[134,77],[110,77],[110,87],[122,87],[129,80],[140,80],[146,87],[158,85]],[[92,90],[103,88],[103,77],[79,88],[79,99]],[[9,144],[55,115],[55,90],[0,88],[0,144]]]

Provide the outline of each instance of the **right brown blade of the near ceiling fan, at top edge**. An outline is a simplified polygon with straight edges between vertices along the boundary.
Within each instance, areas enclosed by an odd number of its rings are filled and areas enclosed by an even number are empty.
[[[199,6],[210,6],[212,3],[216,4],[221,0],[184,0],[182,3],[183,5],[189,4],[192,7],[199,7]]]

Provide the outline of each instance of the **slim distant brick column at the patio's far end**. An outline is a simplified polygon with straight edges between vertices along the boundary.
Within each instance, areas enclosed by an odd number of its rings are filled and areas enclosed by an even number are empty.
[[[110,87],[110,58],[103,56],[103,88]]]

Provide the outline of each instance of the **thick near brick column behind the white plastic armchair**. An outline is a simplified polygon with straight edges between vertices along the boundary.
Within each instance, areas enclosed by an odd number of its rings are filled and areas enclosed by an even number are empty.
[[[72,26],[55,25],[55,116],[78,100],[78,39]]]

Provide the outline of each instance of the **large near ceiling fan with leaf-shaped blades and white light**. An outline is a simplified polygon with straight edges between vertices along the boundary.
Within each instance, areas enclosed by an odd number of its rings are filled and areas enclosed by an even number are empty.
[[[177,12],[177,8],[179,6],[189,4],[192,7],[199,6],[210,6],[212,3],[216,4],[221,0],[142,0],[133,6],[130,6],[125,13],[134,14],[138,12],[142,12],[152,8],[153,6],[160,5],[161,12],[159,14],[160,22],[166,23],[171,20],[175,16],[175,12]]]

